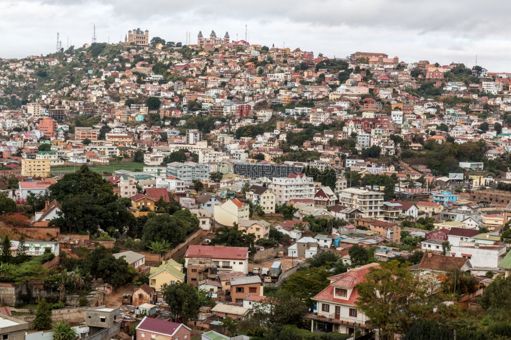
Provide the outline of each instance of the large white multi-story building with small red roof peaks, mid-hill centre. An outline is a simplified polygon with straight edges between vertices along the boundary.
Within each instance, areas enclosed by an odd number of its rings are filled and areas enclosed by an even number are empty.
[[[274,177],[270,188],[275,193],[275,204],[287,204],[292,199],[314,198],[314,180],[305,174],[292,173],[289,177]]]

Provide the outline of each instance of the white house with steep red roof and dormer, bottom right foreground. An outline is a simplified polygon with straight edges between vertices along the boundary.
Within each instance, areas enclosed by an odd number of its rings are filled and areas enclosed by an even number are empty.
[[[316,312],[306,315],[312,320],[311,332],[338,332],[352,334],[355,329],[367,329],[367,317],[357,310],[355,302],[359,295],[357,283],[378,263],[357,266],[346,273],[328,277],[330,285],[312,300],[316,301]]]

